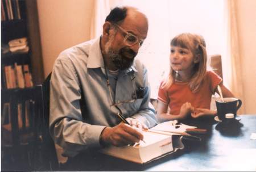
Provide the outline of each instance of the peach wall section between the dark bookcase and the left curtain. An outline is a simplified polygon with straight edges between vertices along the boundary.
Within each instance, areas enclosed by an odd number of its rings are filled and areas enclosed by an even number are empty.
[[[93,0],[38,0],[44,74],[61,51],[90,39]]]

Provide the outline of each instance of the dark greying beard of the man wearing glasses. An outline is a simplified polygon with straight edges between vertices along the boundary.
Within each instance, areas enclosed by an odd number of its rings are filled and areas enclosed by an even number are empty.
[[[131,50],[128,47],[121,48],[118,53],[115,53],[113,49],[110,47],[112,40],[109,40],[109,44],[106,44],[106,53],[109,56],[109,59],[114,64],[115,68],[119,70],[125,70],[133,65],[133,61],[137,53]],[[126,55],[128,54],[129,57]]]

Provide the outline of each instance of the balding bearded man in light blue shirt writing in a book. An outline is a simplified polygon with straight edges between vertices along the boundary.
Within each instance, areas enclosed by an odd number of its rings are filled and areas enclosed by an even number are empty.
[[[156,125],[147,70],[135,59],[147,30],[142,12],[116,7],[101,37],[60,53],[51,75],[49,128],[63,156],[133,144],[143,140],[138,128]]]

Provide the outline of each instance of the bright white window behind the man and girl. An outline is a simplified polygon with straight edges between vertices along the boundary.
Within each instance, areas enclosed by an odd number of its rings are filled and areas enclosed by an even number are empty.
[[[202,35],[208,54],[225,53],[223,0],[123,0],[113,3],[141,9],[148,17],[147,39],[139,58],[148,69],[151,97],[157,98],[158,86],[169,73],[170,40],[182,32]]]

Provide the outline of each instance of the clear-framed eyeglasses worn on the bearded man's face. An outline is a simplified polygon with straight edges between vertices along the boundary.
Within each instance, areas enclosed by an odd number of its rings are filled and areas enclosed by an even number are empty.
[[[137,44],[139,42],[139,47],[142,46],[144,39],[139,40],[137,36],[127,32],[126,30],[124,30],[121,26],[119,26],[118,24],[115,24],[115,26],[117,26],[119,28],[119,30],[121,30],[122,32],[124,32],[126,34],[125,38],[123,39],[123,43],[125,43],[125,45],[127,46],[133,46],[135,44]]]

